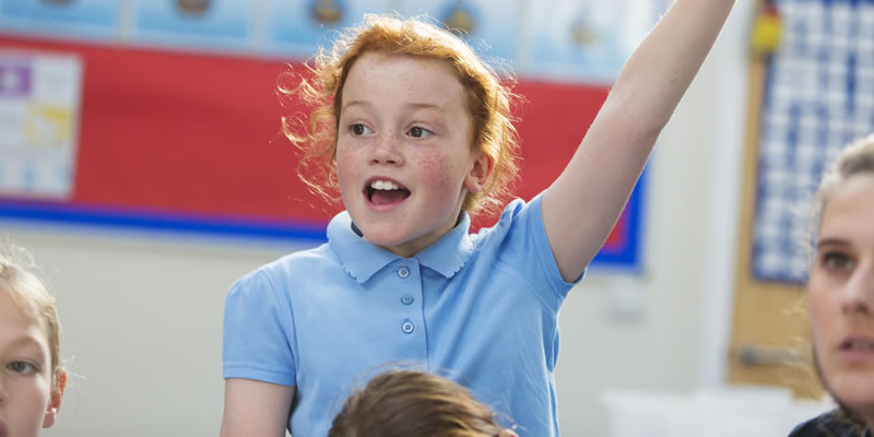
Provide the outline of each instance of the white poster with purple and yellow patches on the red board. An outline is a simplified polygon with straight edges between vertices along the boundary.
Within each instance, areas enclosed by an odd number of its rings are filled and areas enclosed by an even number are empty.
[[[73,56],[0,50],[0,196],[71,197],[82,73]]]

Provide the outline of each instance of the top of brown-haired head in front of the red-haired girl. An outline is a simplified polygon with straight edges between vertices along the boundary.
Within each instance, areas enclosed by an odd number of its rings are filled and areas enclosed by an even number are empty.
[[[388,370],[356,390],[328,437],[515,437],[468,389],[420,370]]]

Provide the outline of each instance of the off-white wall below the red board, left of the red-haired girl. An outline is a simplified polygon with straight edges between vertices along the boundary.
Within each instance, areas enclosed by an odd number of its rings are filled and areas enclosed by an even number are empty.
[[[74,374],[47,436],[217,436],[233,281],[296,248],[2,223],[44,265]]]

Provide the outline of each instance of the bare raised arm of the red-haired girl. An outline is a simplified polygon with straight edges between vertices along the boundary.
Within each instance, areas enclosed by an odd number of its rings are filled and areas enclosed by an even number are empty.
[[[631,55],[570,163],[543,194],[558,270],[576,280],[619,217],[656,139],[734,0],[676,0]]]

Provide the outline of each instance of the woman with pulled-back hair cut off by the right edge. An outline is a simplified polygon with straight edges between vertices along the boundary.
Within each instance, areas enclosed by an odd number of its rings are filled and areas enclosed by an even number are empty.
[[[843,151],[823,178],[807,283],[818,375],[840,408],[794,437],[874,429],[874,135]]]

